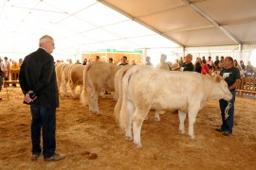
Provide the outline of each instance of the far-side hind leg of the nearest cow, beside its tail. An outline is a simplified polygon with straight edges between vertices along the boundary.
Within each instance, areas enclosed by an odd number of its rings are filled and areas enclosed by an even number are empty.
[[[135,113],[135,107],[134,105],[128,100],[127,101],[127,111],[128,111],[128,121],[127,121],[127,127],[125,131],[125,139],[128,141],[133,140],[132,135],[132,124],[133,124],[133,115]]]

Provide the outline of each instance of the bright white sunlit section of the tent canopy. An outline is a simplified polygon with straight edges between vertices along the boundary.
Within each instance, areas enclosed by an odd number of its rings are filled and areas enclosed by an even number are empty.
[[[55,56],[82,50],[178,45],[95,0],[0,0],[0,56],[27,55],[41,36],[55,39]]]

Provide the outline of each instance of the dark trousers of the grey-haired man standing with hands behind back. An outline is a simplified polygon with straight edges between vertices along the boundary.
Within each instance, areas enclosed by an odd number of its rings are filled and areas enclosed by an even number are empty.
[[[43,155],[45,158],[51,157],[55,153],[55,128],[56,109],[43,108],[34,104],[30,105],[32,114],[31,140],[32,154],[39,154],[42,151],[40,145],[41,128],[43,133]]]

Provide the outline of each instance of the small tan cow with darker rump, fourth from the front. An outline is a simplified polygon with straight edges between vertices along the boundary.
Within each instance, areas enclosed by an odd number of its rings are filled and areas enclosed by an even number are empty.
[[[76,87],[80,86],[80,90],[82,93],[82,86],[83,86],[83,70],[85,65],[75,64],[70,68],[70,76],[69,76],[69,87],[72,92],[73,98],[76,98]]]

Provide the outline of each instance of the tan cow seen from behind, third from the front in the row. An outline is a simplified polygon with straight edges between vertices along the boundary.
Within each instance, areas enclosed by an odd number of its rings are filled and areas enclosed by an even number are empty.
[[[83,106],[89,105],[90,111],[100,113],[99,94],[102,90],[115,92],[114,78],[119,68],[119,66],[101,61],[92,61],[86,65],[83,71],[81,94]]]

